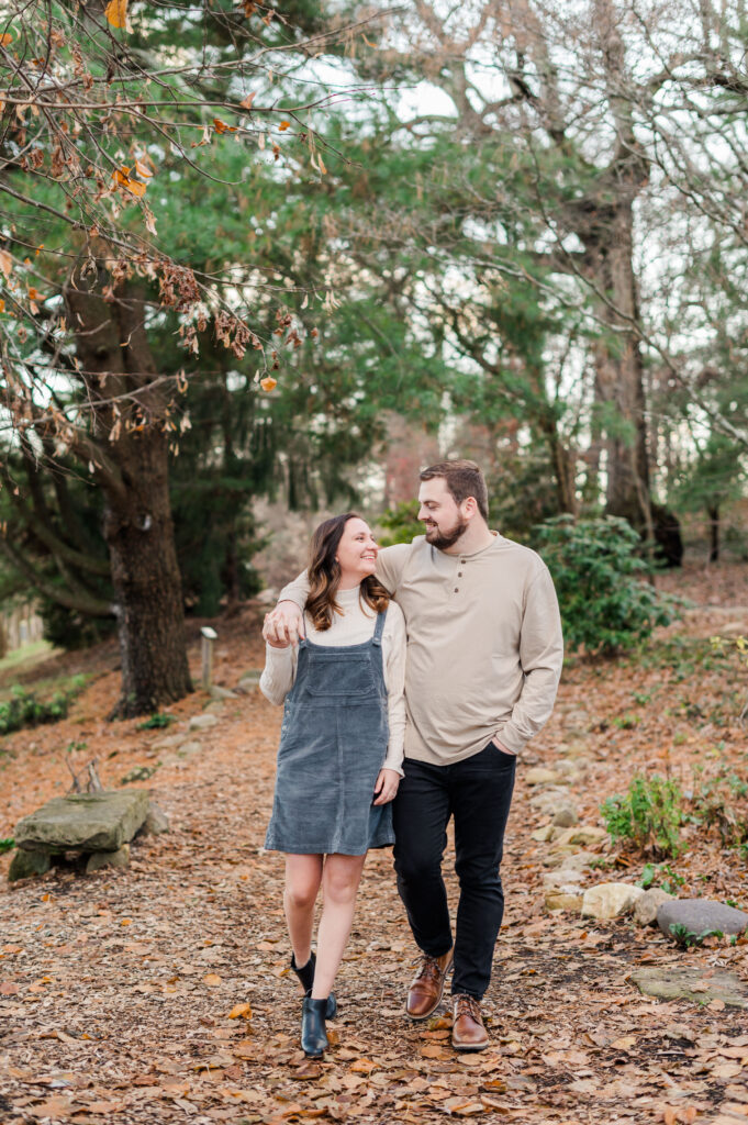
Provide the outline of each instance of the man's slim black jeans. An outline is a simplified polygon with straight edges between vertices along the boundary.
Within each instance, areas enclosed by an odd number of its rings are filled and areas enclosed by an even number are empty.
[[[460,881],[452,992],[480,1000],[490,981],[504,914],[498,868],[512,803],[516,758],[490,742],[449,766],[407,758],[393,806],[397,889],[416,945],[440,957],[452,945],[442,879],[447,825],[454,817],[454,870]]]

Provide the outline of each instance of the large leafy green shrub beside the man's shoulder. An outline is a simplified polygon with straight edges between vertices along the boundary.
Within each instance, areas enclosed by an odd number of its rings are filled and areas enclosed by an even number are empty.
[[[625,520],[570,515],[537,528],[537,542],[553,577],[567,648],[612,656],[675,616],[675,603],[646,579],[651,564]]]

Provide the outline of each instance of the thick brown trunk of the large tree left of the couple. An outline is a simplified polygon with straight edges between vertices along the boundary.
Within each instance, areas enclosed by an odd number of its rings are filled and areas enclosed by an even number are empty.
[[[102,259],[94,280],[75,271],[65,299],[92,404],[93,441],[79,435],[73,451],[88,457],[106,496],[123,673],[112,718],[126,718],[182,699],[192,685],[169,501],[169,404],[153,386],[144,295],[112,286]]]

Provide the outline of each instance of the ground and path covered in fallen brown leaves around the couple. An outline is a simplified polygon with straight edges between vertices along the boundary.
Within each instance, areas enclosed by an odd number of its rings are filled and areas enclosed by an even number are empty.
[[[711,660],[708,638],[736,620],[748,628],[748,595],[742,569],[721,574],[721,587],[692,574],[686,593],[702,608],[663,634],[647,659],[579,664],[565,675],[555,717],[519,773],[503,867],[505,925],[485,1002],[493,1045],[479,1055],[451,1051],[445,1007],[429,1025],[405,1019],[415,951],[389,853],[376,853],[339,978],[334,1047],[324,1062],[305,1062],[299,996],[287,972],[282,861],[261,848],[280,716],[256,693],[225,701],[217,724],[197,736],[201,748],[181,756],[153,746],[183,729],[207,698],[196,693],[173,708],[179,723],[168,731],[108,724],[114,670],[64,722],[3,739],[0,837],[67,789],[62,752],[70,741],[87,744],[79,763],[96,755],[109,786],[134,767],[157,765],[134,784],[153,790],[171,830],[137,840],[125,872],[3,882],[0,1122],[474,1116],[747,1125],[748,1011],[719,1000],[650,999],[629,975],[641,965],[686,963],[746,980],[748,946],[715,943],[685,954],[629,918],[550,915],[543,875],[552,845],[531,838],[548,821],[544,801],[568,798],[580,822],[600,825],[600,801],[624,790],[634,768],[667,768],[684,788],[694,766],[710,763],[745,775],[736,712],[745,672]],[[247,614],[218,628],[216,681],[233,686],[261,662],[256,626]],[[568,763],[561,784],[525,782],[529,765],[559,763]],[[672,864],[683,880],[678,893],[732,898],[745,909],[745,860],[699,826],[685,836],[690,849]],[[584,885],[641,874],[641,855],[620,855],[614,866],[610,845],[589,849],[600,855]],[[9,856],[1,863],[4,879]],[[449,885],[454,903],[451,873]]]

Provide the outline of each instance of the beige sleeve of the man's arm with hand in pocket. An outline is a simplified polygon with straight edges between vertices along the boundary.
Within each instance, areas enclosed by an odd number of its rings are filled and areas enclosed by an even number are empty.
[[[543,567],[525,601],[520,636],[524,684],[511,719],[496,731],[508,750],[519,754],[550,718],[564,665],[561,618],[553,579]]]

